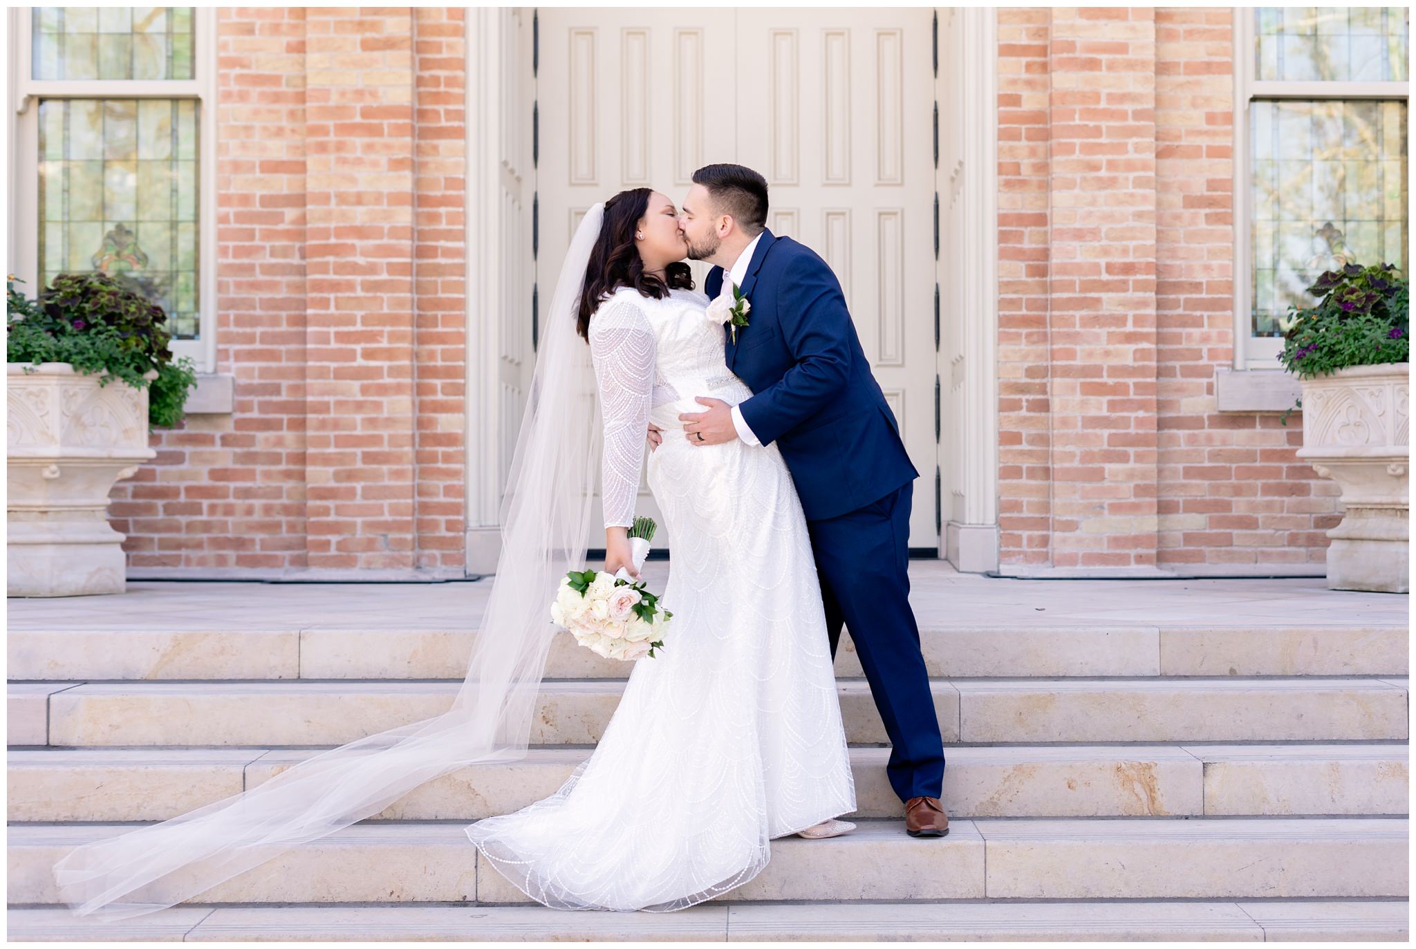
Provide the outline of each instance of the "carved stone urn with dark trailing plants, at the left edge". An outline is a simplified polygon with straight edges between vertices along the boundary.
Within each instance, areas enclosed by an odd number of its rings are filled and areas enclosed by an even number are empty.
[[[61,273],[38,299],[7,282],[10,596],[120,593],[123,534],[108,494],[156,452],[197,377],[167,314],[103,273]]]

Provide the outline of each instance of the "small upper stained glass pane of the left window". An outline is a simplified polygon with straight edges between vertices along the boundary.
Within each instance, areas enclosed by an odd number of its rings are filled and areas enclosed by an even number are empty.
[[[191,79],[193,7],[34,7],[35,79]]]

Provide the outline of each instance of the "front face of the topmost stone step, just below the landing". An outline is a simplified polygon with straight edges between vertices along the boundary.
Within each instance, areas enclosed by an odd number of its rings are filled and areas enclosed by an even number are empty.
[[[936,678],[1100,676],[1405,676],[1400,626],[959,626],[920,613]],[[13,681],[455,678],[476,632],[464,629],[11,629]],[[627,663],[558,635],[547,678],[624,678]],[[844,636],[835,673],[862,676]]]

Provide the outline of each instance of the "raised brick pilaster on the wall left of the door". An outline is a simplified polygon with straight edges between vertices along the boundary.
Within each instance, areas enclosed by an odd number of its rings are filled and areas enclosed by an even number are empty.
[[[413,565],[408,8],[306,11],[306,558]]]

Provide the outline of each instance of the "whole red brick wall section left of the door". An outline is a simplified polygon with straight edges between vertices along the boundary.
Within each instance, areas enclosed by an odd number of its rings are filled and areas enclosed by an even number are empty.
[[[214,323],[235,407],[159,433],[119,483],[135,574],[462,574],[462,20],[219,11]]]

